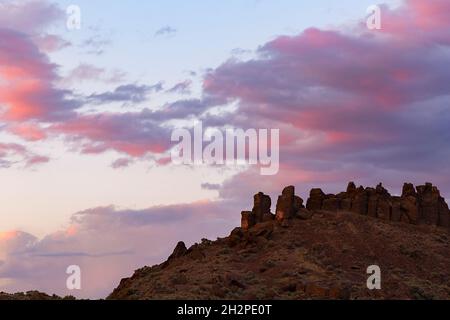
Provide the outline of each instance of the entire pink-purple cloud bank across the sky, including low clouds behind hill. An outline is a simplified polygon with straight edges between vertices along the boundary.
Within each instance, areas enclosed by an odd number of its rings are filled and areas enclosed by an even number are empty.
[[[382,16],[377,31],[361,21],[346,30],[309,28],[280,36],[261,45],[257,58],[232,58],[210,70],[200,98],[157,110],[94,114],[81,106],[142,103],[151,89],[123,84],[79,101],[55,85],[57,68],[26,33],[28,26],[17,18],[21,31],[6,29],[0,20],[0,38],[8,40],[0,46],[0,130],[26,141],[63,136],[81,153],[116,151],[121,158],[112,166],[124,168],[148,154],[166,154],[167,123],[174,120],[281,132],[280,173],[261,177],[250,168],[221,186],[204,181],[205,189],[219,191],[219,202],[96,208],[75,214],[67,230],[44,239],[0,235],[2,288],[61,293],[65,268],[79,264],[88,284],[82,294],[105,295],[134,268],[160,262],[176,241],[226,233],[238,225],[253,193],[274,196],[287,184],[306,196],[312,186],[334,192],[348,180],[383,181],[393,190],[403,181],[431,180],[449,196],[450,3],[406,0],[395,9],[384,6]],[[236,110],[210,112],[226,104]],[[45,161],[19,144],[0,144],[0,166],[13,165],[14,154]]]

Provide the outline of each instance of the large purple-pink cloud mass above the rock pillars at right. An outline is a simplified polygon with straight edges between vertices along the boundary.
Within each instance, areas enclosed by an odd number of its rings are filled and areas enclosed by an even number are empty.
[[[353,179],[371,170],[388,180],[391,170],[440,179],[450,171],[443,161],[450,156],[449,29],[441,29],[449,15],[448,2],[406,1],[383,7],[381,31],[361,23],[353,32],[310,28],[278,37],[261,46],[259,58],[227,61],[206,76],[207,94],[239,105],[207,121],[281,128],[281,171],[293,166],[320,177],[351,168]]]

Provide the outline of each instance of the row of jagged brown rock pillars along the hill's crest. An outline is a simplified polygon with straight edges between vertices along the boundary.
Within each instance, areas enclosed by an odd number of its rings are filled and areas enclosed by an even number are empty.
[[[293,186],[286,187],[278,197],[275,216],[270,213],[270,197],[263,193],[255,195],[253,211],[242,213],[241,228],[270,220],[284,221],[305,214],[303,200],[295,195]],[[302,210],[303,209],[303,210]],[[306,209],[314,211],[347,211],[370,217],[406,222],[411,224],[435,225],[450,229],[450,210],[437,187],[431,183],[414,187],[405,183],[401,196],[392,196],[380,183],[375,188],[356,187],[350,182],[347,191],[339,194],[325,194],[321,189],[312,189]]]

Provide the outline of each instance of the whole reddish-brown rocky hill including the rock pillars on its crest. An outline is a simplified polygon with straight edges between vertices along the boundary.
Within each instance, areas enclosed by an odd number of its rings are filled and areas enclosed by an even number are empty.
[[[123,279],[109,299],[450,299],[450,210],[431,183],[339,194],[260,192],[226,238],[178,243],[161,265]],[[381,269],[381,290],[367,268]]]

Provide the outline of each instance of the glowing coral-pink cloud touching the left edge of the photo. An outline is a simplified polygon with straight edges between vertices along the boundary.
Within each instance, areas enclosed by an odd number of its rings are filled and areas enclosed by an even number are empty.
[[[56,89],[56,66],[50,63],[24,34],[0,29],[0,103],[6,110],[0,119],[7,121],[55,120],[69,116],[74,101],[67,92]]]

